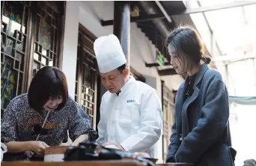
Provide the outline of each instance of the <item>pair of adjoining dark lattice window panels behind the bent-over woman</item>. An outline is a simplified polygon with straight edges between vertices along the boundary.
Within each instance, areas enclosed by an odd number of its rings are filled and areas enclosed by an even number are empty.
[[[38,69],[58,66],[63,16],[64,1],[1,1],[1,115]]]

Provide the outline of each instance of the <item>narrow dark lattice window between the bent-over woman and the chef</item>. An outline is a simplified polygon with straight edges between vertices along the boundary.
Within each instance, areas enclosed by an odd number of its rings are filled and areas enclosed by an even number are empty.
[[[94,36],[80,25],[77,48],[75,100],[86,110],[91,120],[91,126],[96,129],[97,60],[93,49],[94,40]]]

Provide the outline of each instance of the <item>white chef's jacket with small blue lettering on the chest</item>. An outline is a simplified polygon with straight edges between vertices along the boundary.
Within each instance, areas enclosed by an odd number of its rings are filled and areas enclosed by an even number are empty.
[[[128,152],[155,157],[162,133],[162,107],[156,90],[130,76],[119,95],[109,91],[100,104],[97,144],[112,141]]]

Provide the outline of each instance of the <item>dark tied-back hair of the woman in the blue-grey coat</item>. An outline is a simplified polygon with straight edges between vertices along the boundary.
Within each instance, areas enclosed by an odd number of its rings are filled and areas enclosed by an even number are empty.
[[[183,52],[195,64],[200,63],[200,60],[207,64],[211,61],[210,57],[205,55],[204,42],[202,42],[201,36],[193,28],[188,26],[175,28],[168,35],[166,42],[167,46],[171,45],[177,51],[177,54]]]

